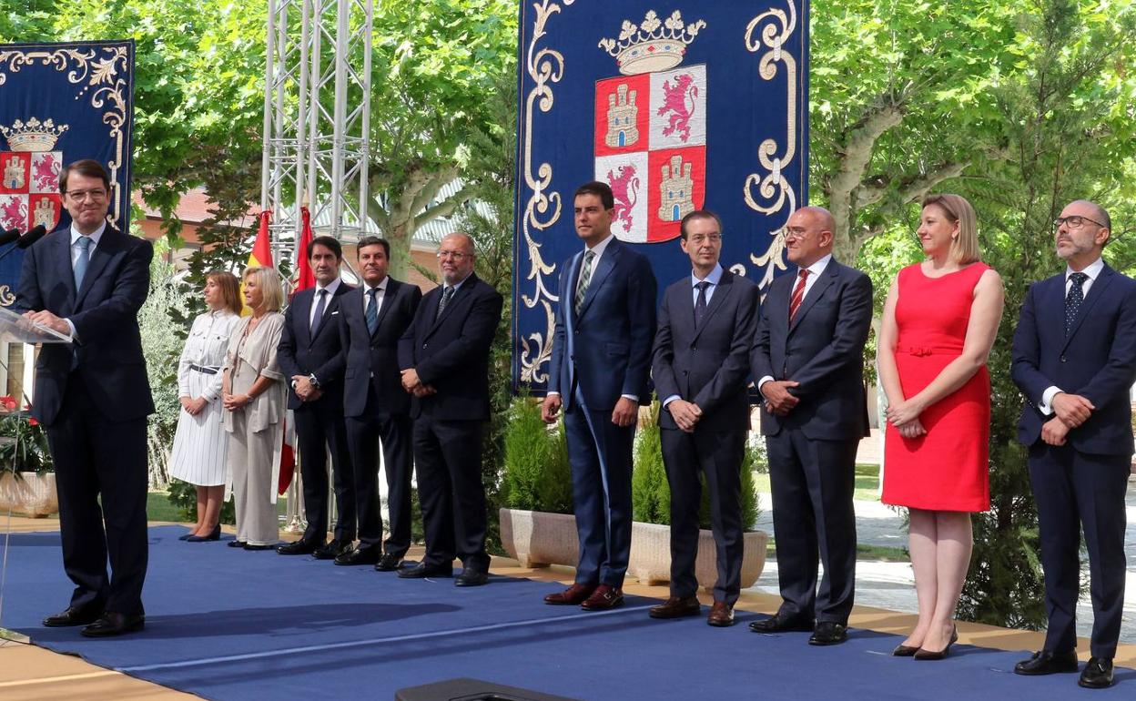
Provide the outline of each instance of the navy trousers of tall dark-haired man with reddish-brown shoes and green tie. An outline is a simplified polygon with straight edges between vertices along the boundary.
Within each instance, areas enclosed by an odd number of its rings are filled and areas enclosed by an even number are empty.
[[[632,445],[635,426],[584,406],[577,392],[565,412],[571,493],[579,537],[576,582],[621,587],[632,549]]]

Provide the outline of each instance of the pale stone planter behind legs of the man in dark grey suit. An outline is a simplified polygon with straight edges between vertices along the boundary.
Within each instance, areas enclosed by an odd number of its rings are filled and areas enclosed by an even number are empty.
[[[766,546],[769,536],[763,531],[742,535],[742,589],[753,586],[766,566]],[[699,556],[694,560],[694,576],[705,591],[713,589],[718,579],[718,556],[713,545],[713,533],[699,531]],[[666,584],[670,581],[670,526],[659,524],[632,524],[632,554],[627,574],[646,585]]]

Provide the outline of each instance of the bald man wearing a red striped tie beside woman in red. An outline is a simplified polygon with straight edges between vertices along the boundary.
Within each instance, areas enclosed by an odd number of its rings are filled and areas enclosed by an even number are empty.
[[[797,274],[769,285],[753,348],[783,602],[776,616],[750,628],[812,631],[812,645],[847,636],[855,589],[855,449],[868,435],[863,344],[871,281],[833,258],[834,227],[833,215],[820,207],[788,218],[785,249]],[[825,566],[819,591],[818,556]]]

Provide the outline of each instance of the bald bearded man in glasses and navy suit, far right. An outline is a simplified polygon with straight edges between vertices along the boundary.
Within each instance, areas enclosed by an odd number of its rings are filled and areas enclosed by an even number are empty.
[[[1077,671],[1084,528],[1093,634],[1092,658],[1078,683],[1102,689],[1113,682],[1124,611],[1136,281],[1101,258],[1112,228],[1104,208],[1077,200],[1054,224],[1066,269],[1030,286],[1013,335],[1013,381],[1026,398],[1018,440],[1029,449],[1049,615],[1044,646],[1014,671]]]

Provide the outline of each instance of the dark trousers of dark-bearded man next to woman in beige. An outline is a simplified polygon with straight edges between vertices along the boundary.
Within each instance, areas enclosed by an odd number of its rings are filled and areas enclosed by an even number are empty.
[[[303,539],[327,540],[327,452],[332,453],[335,481],[335,539],[356,536],[354,500],[351,498],[351,456],[343,423],[342,397],[324,397],[304,402],[294,411],[295,437],[300,448],[300,474],[303,476],[303,515],[308,527]]]

